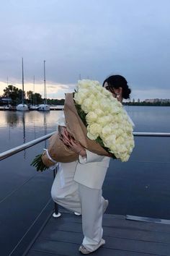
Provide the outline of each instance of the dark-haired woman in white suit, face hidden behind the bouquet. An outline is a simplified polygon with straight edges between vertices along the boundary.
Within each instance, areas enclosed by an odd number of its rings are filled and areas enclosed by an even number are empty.
[[[120,75],[108,77],[103,86],[117,101],[122,102],[123,98],[130,96],[131,90],[127,81]],[[108,200],[102,197],[102,184],[110,158],[86,150],[79,142],[69,137],[64,125],[64,122],[61,123],[61,140],[79,154],[79,161],[60,163],[51,195],[59,205],[82,215],[84,239],[79,251],[89,254],[105,244],[102,239],[102,216],[107,209]]]

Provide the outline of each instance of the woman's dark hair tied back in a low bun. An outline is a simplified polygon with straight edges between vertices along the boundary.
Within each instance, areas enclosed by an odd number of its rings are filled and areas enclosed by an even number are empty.
[[[125,77],[122,77],[120,74],[114,74],[110,77],[107,77],[107,79],[104,80],[103,85],[107,82],[110,88],[122,88],[122,98],[130,98],[131,90],[128,86],[128,82],[125,80]]]

